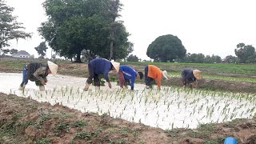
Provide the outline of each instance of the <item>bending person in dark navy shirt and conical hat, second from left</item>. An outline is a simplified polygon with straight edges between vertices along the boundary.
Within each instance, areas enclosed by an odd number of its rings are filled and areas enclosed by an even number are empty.
[[[112,86],[108,74],[111,70],[115,70],[116,72],[118,72],[119,66],[119,62],[109,61],[105,58],[95,58],[91,60],[88,64],[89,78],[87,78],[86,80],[86,86],[84,90],[87,91],[89,89],[90,84],[93,82],[93,79],[96,89],[100,88],[100,79],[98,78],[99,74],[103,75],[111,89]]]

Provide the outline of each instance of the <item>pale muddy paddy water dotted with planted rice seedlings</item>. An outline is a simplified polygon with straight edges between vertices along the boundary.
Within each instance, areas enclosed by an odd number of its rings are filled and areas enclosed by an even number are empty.
[[[252,118],[256,112],[254,96],[214,93],[201,90],[183,90],[162,87],[162,90],[146,90],[136,84],[135,90],[120,90],[112,82],[112,89],[102,86],[83,91],[86,78],[49,75],[45,91],[38,91],[29,82],[24,91],[18,90],[22,74],[0,73],[0,91],[32,98],[38,102],[60,103],[82,112],[109,114],[145,125],[172,128],[196,128],[199,124],[226,122],[234,118]]]

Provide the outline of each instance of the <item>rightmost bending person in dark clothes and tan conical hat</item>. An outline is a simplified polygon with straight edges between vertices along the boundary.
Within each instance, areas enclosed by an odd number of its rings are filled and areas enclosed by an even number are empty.
[[[190,86],[197,87],[198,80],[202,79],[202,71],[200,70],[192,70],[192,69],[184,69],[182,70],[182,84],[183,87]]]

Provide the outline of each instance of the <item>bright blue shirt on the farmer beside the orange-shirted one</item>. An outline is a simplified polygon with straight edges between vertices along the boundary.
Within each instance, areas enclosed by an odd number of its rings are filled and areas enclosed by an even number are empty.
[[[125,66],[125,65],[120,66],[119,70],[122,71],[123,77],[125,79],[131,80],[130,87],[131,87],[131,90],[134,90],[134,82],[135,82],[135,79],[136,79],[138,73],[134,69],[130,68],[129,66]]]

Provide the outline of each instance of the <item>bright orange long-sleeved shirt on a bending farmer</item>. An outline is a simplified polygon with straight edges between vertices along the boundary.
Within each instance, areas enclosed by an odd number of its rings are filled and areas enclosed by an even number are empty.
[[[149,71],[147,73],[147,76],[150,78],[153,78],[154,80],[158,80],[158,87],[161,86],[161,80],[162,80],[162,70],[160,70],[157,66],[149,65]]]

